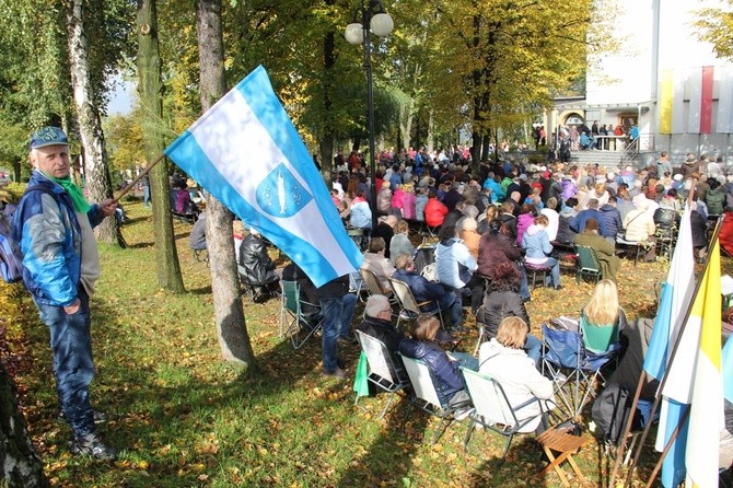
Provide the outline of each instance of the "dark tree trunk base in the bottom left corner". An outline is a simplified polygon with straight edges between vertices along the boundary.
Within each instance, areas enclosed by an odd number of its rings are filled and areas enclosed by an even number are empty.
[[[18,411],[15,392],[5,368],[0,364],[0,486],[47,487],[44,465],[38,458],[25,421]]]

